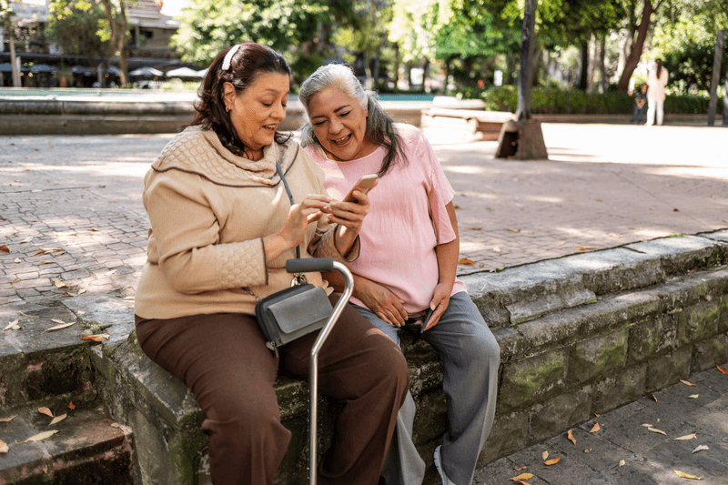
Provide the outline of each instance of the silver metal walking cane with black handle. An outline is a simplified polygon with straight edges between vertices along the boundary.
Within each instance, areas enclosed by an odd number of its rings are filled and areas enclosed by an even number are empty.
[[[351,275],[351,271],[342,263],[334,261],[331,258],[303,258],[303,259],[288,259],[286,261],[286,271],[288,273],[309,273],[312,271],[331,271],[336,269],[344,277],[344,291],[339,298],[339,302],[334,307],[329,317],[329,321],[326,322],[323,328],[319,332],[319,337],[311,348],[310,359],[308,360],[308,388],[310,389],[310,402],[309,402],[309,429],[308,429],[308,483],[310,485],[316,485],[316,459],[317,459],[317,393],[319,388],[319,350],[324,345],[324,341],[329,337],[331,329],[334,328],[334,324],[339,319],[339,315],[344,310],[344,307],[349,302],[351,293],[354,291],[354,277]]]

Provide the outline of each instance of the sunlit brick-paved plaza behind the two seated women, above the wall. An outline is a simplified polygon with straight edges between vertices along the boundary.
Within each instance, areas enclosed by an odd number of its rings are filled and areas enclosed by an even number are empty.
[[[550,159],[527,162],[495,159],[496,142],[431,137],[457,194],[460,258],[472,261],[459,274],[728,227],[724,128],[543,133]],[[171,136],[0,136],[0,246],[11,251],[0,251],[0,318],[80,292],[134,296],[143,177]]]

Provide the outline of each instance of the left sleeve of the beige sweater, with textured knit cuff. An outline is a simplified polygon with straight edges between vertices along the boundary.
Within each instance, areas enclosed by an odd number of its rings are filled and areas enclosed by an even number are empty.
[[[155,177],[145,191],[159,268],[181,293],[265,285],[261,238],[221,243],[213,205],[202,177],[177,170]]]

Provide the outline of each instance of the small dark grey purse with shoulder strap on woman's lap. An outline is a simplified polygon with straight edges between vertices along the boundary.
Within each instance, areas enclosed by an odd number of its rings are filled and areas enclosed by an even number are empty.
[[[293,206],[293,194],[278,162],[276,170]],[[297,246],[296,258],[300,258],[300,255],[301,251]],[[281,289],[266,298],[258,298],[248,288],[244,289],[258,299],[256,305],[258,327],[266,338],[266,347],[276,357],[278,357],[278,347],[322,328],[334,309],[326,290],[308,283],[303,273],[293,277],[290,288]]]

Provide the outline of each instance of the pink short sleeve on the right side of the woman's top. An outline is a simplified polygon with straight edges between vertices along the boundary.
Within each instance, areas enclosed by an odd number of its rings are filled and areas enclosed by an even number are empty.
[[[448,178],[440,167],[440,161],[435,156],[435,151],[430,146],[430,142],[420,133],[418,136],[418,144],[416,150],[417,157],[421,157],[421,163],[427,170],[428,179],[428,196],[430,198],[430,217],[435,227],[435,236],[438,238],[438,244],[449,243],[455,240],[455,231],[450,222],[448,209],[445,207],[455,197],[455,191],[452,190]]]

